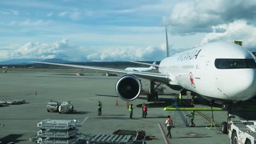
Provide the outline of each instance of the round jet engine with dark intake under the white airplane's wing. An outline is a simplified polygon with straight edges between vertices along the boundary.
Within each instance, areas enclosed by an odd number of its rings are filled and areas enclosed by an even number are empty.
[[[141,94],[141,90],[141,81],[137,76],[132,74],[121,76],[115,85],[115,91],[117,92],[118,97],[126,101],[138,98],[139,94]]]

